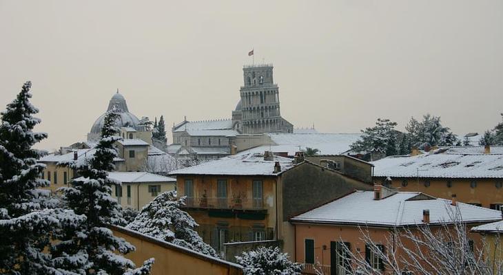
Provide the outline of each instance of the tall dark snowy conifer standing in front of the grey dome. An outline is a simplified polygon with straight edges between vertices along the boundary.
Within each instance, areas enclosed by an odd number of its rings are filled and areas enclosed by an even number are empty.
[[[118,113],[114,109],[105,115],[101,140],[96,146],[96,153],[82,161],[63,162],[59,165],[76,169],[83,181],[72,181],[73,187],[61,188],[63,200],[76,214],[85,214],[87,220],[76,230],[68,232],[72,239],[54,245],[54,254],[75,254],[81,252],[88,256],[85,274],[147,274],[153,259],[146,261],[143,267],[132,270],[132,261],[116,254],[127,254],[134,246],[125,239],[114,236],[109,224],[123,223],[121,206],[112,198],[113,182],[107,178],[108,171],[114,170],[113,160],[117,156],[114,142],[121,137],[115,120]]]

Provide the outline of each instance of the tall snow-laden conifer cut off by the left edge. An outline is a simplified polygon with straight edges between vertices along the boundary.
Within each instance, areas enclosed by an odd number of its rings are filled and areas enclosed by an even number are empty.
[[[66,274],[59,268],[61,261],[79,261],[81,255],[65,254],[52,257],[51,238],[59,238],[64,230],[72,230],[85,220],[70,210],[48,209],[52,205],[48,186],[41,179],[45,164],[37,164],[43,155],[32,146],[46,133],[36,133],[34,126],[41,120],[32,115],[39,110],[30,103],[31,83],[6,111],[0,125],[0,272],[2,274]]]

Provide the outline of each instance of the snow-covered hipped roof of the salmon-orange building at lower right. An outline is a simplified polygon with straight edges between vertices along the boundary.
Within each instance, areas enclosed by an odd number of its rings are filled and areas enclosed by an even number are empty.
[[[459,208],[462,221],[491,222],[502,219],[500,211],[436,199],[420,192],[396,192],[375,200],[374,191],[355,191],[345,197],[291,218],[292,222],[359,224],[374,226],[419,225],[422,210],[429,210],[430,224],[449,223]]]

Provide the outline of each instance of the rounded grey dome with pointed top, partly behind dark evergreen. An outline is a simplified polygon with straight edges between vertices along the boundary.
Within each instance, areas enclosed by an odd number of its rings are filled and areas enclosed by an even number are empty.
[[[117,91],[117,93],[114,94],[114,96],[112,96],[112,98],[110,99],[107,111],[112,110],[112,108],[114,107],[116,107],[117,111],[119,111],[119,117],[117,118],[116,126],[130,126],[136,129],[138,124],[140,124],[140,120],[136,118],[136,115],[129,112],[125,98],[123,95],[119,94],[119,91]],[[99,118],[94,122],[94,124],[92,124],[90,135],[92,135],[93,137],[99,137],[99,135],[101,135],[101,129],[103,128],[106,114],[107,113],[103,113],[103,115],[100,115]]]

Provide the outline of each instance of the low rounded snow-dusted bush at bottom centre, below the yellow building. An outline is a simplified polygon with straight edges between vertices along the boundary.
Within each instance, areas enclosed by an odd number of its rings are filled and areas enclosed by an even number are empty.
[[[279,248],[260,247],[236,256],[245,275],[294,275],[302,272],[300,263],[292,263]]]

